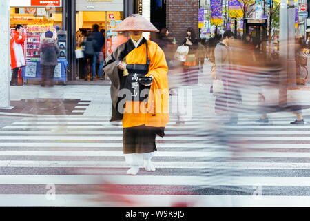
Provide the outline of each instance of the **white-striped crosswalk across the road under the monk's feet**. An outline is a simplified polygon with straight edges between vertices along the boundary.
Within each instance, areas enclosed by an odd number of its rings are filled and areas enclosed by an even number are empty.
[[[125,175],[108,116],[25,117],[0,130],[0,206],[310,206],[310,124],[168,124],[156,171]]]

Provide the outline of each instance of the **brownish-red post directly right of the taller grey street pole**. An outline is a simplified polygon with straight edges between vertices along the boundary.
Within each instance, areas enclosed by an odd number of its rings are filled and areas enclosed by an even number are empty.
[[[289,86],[296,86],[296,60],[295,60],[295,6],[294,1],[289,0],[288,11],[288,57],[287,77]]]

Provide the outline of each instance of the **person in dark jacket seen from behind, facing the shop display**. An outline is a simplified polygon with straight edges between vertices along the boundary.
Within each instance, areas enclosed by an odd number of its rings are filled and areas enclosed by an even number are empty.
[[[59,46],[53,39],[53,32],[45,32],[45,39],[39,46],[41,57],[40,64],[42,66],[42,82],[41,86],[54,86],[54,72],[58,64]]]

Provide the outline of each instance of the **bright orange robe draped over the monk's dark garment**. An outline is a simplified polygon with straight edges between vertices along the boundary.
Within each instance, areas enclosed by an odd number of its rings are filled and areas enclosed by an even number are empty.
[[[125,103],[123,128],[133,126],[165,127],[169,122],[169,86],[167,79],[167,62],[161,48],[153,41],[147,41],[149,72],[146,76],[153,77],[147,102]],[[145,64],[146,44],[139,46],[126,55],[127,64]]]

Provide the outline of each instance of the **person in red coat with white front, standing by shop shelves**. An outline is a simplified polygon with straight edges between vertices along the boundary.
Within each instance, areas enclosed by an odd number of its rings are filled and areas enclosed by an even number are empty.
[[[25,66],[25,56],[23,54],[23,42],[25,42],[25,32],[23,26],[17,25],[10,38],[11,68],[13,69],[11,85],[18,85],[19,68]]]

